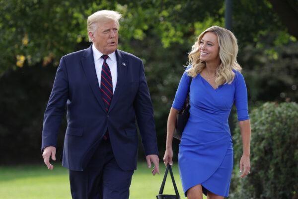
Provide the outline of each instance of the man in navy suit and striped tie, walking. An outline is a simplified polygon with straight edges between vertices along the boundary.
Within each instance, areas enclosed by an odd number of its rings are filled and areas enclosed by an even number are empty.
[[[148,167],[159,173],[153,109],[142,60],[117,49],[121,14],[88,17],[89,48],[63,56],[45,111],[42,150],[52,170],[67,106],[63,166],[74,199],[128,199],[137,168],[136,118]]]

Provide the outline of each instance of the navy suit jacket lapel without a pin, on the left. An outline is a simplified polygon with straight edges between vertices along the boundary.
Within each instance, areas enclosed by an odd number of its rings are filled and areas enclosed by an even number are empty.
[[[87,81],[93,91],[93,94],[95,95],[100,106],[105,110],[105,106],[101,97],[101,92],[98,84],[98,79],[96,76],[92,45],[84,52],[81,58],[81,63],[82,63],[85,75],[87,77]]]

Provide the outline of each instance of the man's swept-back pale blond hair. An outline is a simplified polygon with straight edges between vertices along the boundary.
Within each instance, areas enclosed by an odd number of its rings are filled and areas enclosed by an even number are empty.
[[[90,16],[88,16],[87,19],[87,31],[88,31],[88,38],[89,41],[92,41],[92,39],[89,36],[89,32],[94,32],[97,30],[98,26],[102,23],[106,23],[108,21],[115,21],[118,28],[119,28],[119,19],[122,17],[122,14],[120,14],[117,11],[113,10],[99,10],[97,12],[94,12]]]

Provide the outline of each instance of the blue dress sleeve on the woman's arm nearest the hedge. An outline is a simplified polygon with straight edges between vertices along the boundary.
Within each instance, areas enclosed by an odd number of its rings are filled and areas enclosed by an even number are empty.
[[[247,104],[247,89],[243,75],[235,72],[235,94],[234,99],[236,103],[238,121],[249,119],[248,104]]]

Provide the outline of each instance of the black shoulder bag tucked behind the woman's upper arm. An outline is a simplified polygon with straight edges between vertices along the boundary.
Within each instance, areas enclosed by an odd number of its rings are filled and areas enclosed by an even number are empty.
[[[191,81],[192,81],[192,78],[190,78],[189,83],[188,83],[187,97],[185,99],[183,108],[181,110],[179,110],[179,112],[177,114],[174,138],[176,138],[178,140],[181,140],[182,132],[183,132],[184,127],[185,127],[187,120],[189,118],[189,109],[190,109],[189,89],[190,89]]]

